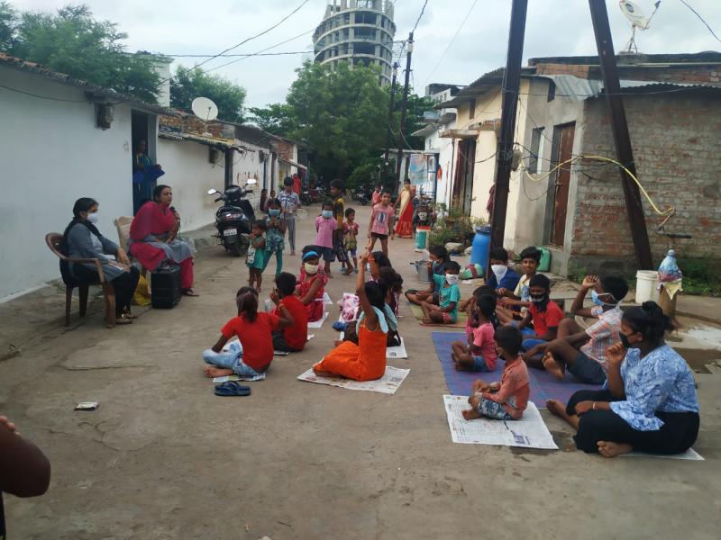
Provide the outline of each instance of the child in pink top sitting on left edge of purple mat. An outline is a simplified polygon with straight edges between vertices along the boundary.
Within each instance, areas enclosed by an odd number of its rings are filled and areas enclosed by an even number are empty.
[[[496,369],[496,330],[491,322],[495,311],[495,296],[482,294],[474,302],[469,316],[473,319],[473,329],[468,337],[468,346],[461,341],[454,341],[451,345],[451,357],[457,370],[489,372]]]

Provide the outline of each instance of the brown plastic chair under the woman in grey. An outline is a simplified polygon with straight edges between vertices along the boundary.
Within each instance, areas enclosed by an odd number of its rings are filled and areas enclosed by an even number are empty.
[[[103,264],[100,259],[89,258],[79,259],[64,256],[60,252],[62,243],[62,235],[57,232],[50,232],[45,236],[45,243],[50,247],[55,255],[60,259],[60,275],[65,284],[65,326],[70,324],[70,304],[73,298],[73,289],[78,287],[80,296],[80,317],[85,317],[87,312],[87,293],[90,285],[100,285],[103,287],[103,296],[105,297],[105,326],[109,329],[115,327],[115,290],[113,284],[105,280],[105,272],[103,272]],[[69,265],[71,263],[89,263],[96,265],[98,279],[94,282],[84,282],[75,279],[70,274]]]

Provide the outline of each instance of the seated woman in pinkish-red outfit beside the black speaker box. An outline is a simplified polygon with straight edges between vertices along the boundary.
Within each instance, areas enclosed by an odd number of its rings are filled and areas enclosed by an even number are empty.
[[[152,197],[132,219],[130,254],[151,272],[163,261],[180,265],[180,289],[186,296],[197,296],[193,291],[193,254],[185,242],[176,238],[180,217],[170,206],[173,192],[169,185],[160,184]]]

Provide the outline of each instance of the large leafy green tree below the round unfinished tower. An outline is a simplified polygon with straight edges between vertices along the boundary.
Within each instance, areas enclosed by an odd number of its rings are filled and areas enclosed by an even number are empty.
[[[331,70],[308,61],[298,70],[287,95],[296,122],[290,137],[312,149],[325,180],[347,177],[383,148],[388,93],[378,80],[378,67],[345,62]]]

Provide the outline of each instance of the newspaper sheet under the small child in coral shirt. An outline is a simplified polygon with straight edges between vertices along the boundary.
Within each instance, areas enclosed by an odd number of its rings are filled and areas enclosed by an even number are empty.
[[[558,450],[533,401],[528,401],[522,419],[510,421],[464,419],[461,411],[470,409],[468,397],[445,395],[443,403],[454,443]]]

